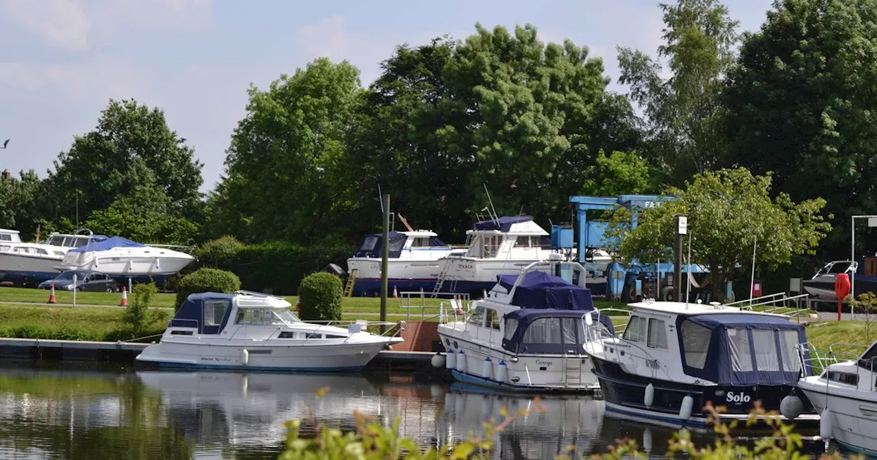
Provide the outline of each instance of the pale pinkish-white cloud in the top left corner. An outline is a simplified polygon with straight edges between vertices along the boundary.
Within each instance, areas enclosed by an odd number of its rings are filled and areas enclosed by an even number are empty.
[[[89,49],[91,23],[77,0],[13,0],[5,13],[53,46],[71,51]]]

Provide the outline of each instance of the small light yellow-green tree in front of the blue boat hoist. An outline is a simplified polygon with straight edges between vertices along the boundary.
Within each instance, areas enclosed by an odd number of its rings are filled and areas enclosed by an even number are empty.
[[[822,198],[796,204],[780,193],[772,199],[771,180],[770,174],[753,176],[745,168],[696,174],[684,189],[667,191],[673,199],[640,210],[636,227],[628,212],[617,210],[610,235],[620,238],[627,260],[667,260],[674,216],[688,216],[692,260],[709,267],[713,293],[721,296],[736,267],[751,263],[756,242],[756,263],[775,268],[793,255],[814,253],[831,230],[821,215]]]

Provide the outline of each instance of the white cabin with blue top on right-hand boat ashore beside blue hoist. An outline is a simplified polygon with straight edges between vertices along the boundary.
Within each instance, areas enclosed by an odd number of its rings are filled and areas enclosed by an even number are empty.
[[[467,251],[471,258],[538,258],[551,247],[551,237],[531,216],[502,216],[476,222],[467,230]]]

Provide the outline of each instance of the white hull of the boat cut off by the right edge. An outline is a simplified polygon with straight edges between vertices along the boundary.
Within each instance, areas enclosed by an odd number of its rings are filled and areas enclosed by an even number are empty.
[[[825,392],[825,382],[817,377],[802,379],[798,388],[806,394],[816,411],[831,411],[831,435],[847,449],[877,453],[877,398],[856,397],[841,392]],[[863,392],[857,392],[862,394]]]

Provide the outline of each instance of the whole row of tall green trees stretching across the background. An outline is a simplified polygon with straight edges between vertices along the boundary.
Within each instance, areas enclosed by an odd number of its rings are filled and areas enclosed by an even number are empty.
[[[45,178],[0,184],[0,226],[337,246],[380,229],[380,188],[461,243],[486,191],[500,214],[547,225],[572,220],[569,195],[661,193],[743,167],[771,178],[772,199],[824,198],[818,256],[842,257],[849,216],[877,214],[877,0],[779,0],[743,34],[717,0],[659,8],[657,50],[618,48],[626,94],[587,44],[546,44],[532,25],[397,46],[367,87],[349,62],[313,60],[248,89],[207,195],[162,110],[111,101]]]

